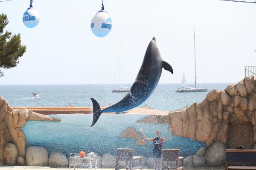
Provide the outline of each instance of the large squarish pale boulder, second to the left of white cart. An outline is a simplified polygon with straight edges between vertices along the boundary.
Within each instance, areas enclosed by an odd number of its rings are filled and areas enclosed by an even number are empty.
[[[44,147],[29,146],[26,149],[27,166],[46,166],[48,164],[48,151]]]

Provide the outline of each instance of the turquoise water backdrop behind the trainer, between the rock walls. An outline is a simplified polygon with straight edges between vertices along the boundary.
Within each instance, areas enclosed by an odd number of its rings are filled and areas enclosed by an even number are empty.
[[[52,116],[52,115],[49,115]],[[135,139],[120,138],[122,132],[128,127],[133,127],[140,132],[144,129],[147,137],[154,137],[156,130],[161,131],[162,137],[169,134],[167,124],[137,123],[137,120],[145,115],[105,114],[102,115],[96,125],[90,127],[93,115],[91,114],[68,114],[54,115],[61,122],[36,122],[28,121],[23,132],[28,146],[42,146],[48,152],[58,151],[66,154],[96,152],[116,154],[116,148],[135,148],[136,155],[151,156],[153,144],[147,142],[145,146],[135,144]],[[189,138],[172,135],[172,138],[163,143],[163,148],[180,148],[181,156],[195,154],[205,144]]]

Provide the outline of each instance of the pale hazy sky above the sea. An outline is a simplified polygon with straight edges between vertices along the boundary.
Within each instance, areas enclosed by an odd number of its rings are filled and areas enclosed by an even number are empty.
[[[163,70],[160,83],[193,82],[195,26],[197,82],[239,82],[244,66],[256,63],[256,4],[220,0],[104,0],[112,20],[103,38],[90,30],[101,0],[34,0],[40,15],[26,28],[29,0],[0,2],[6,30],[21,34],[26,53],[2,84],[133,83],[152,37],[174,74]],[[115,78],[116,77],[116,78]]]

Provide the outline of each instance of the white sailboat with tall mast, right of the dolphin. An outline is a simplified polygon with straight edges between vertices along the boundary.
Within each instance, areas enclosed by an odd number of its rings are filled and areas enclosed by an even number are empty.
[[[193,28],[194,28],[194,53],[195,53],[195,27],[193,27]],[[195,65],[195,84],[183,85],[184,82],[186,82],[186,78],[185,78],[185,72],[183,71],[181,87],[176,90],[177,92],[203,92],[203,91],[208,90],[207,88],[197,88],[196,87],[196,65]],[[193,88],[193,86],[195,86],[195,88]]]

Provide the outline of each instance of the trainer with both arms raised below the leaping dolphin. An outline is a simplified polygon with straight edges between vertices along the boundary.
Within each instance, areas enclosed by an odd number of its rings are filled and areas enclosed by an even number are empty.
[[[162,170],[162,146],[163,146],[163,142],[171,138],[172,128],[169,129],[168,138],[161,138],[160,130],[157,130],[155,138],[147,138],[145,136],[145,133],[143,132],[143,129],[140,129],[140,131],[142,132],[145,140],[152,141],[154,144],[153,157],[154,157],[155,170]]]

